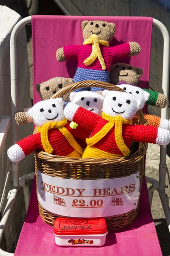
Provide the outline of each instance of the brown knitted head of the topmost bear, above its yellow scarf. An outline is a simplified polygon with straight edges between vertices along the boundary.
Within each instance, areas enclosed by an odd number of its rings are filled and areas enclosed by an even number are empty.
[[[115,34],[115,24],[102,20],[85,20],[81,24],[83,39],[86,40],[92,34],[96,34],[99,40],[111,42]]]

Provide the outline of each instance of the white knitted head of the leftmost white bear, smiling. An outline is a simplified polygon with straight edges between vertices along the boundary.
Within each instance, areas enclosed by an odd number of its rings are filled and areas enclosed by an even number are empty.
[[[64,119],[62,98],[37,102],[28,110],[28,115],[38,127],[48,122],[59,122]]]

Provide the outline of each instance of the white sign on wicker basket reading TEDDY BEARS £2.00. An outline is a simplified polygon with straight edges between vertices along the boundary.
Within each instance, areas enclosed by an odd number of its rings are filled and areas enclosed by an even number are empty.
[[[75,180],[37,171],[40,205],[56,215],[68,217],[116,216],[136,209],[139,173],[115,179]]]

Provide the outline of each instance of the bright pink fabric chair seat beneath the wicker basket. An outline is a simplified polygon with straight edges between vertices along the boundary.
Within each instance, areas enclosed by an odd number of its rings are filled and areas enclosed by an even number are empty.
[[[52,227],[39,216],[36,184],[26,220],[20,233],[15,256],[161,256],[157,232],[150,213],[150,204],[145,179],[143,181],[140,208],[137,220],[128,228],[109,231],[102,247],[59,247],[55,244]]]

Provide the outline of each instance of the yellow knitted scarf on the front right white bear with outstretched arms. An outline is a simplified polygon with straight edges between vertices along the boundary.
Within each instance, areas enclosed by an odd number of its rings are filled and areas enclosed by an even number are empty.
[[[123,155],[127,156],[130,154],[129,148],[125,145],[122,136],[122,124],[130,124],[131,120],[123,119],[122,116],[116,115],[115,117],[102,113],[102,118],[108,121],[101,130],[89,139],[86,139],[88,146],[93,146],[100,141],[115,125],[115,140],[119,150]]]

